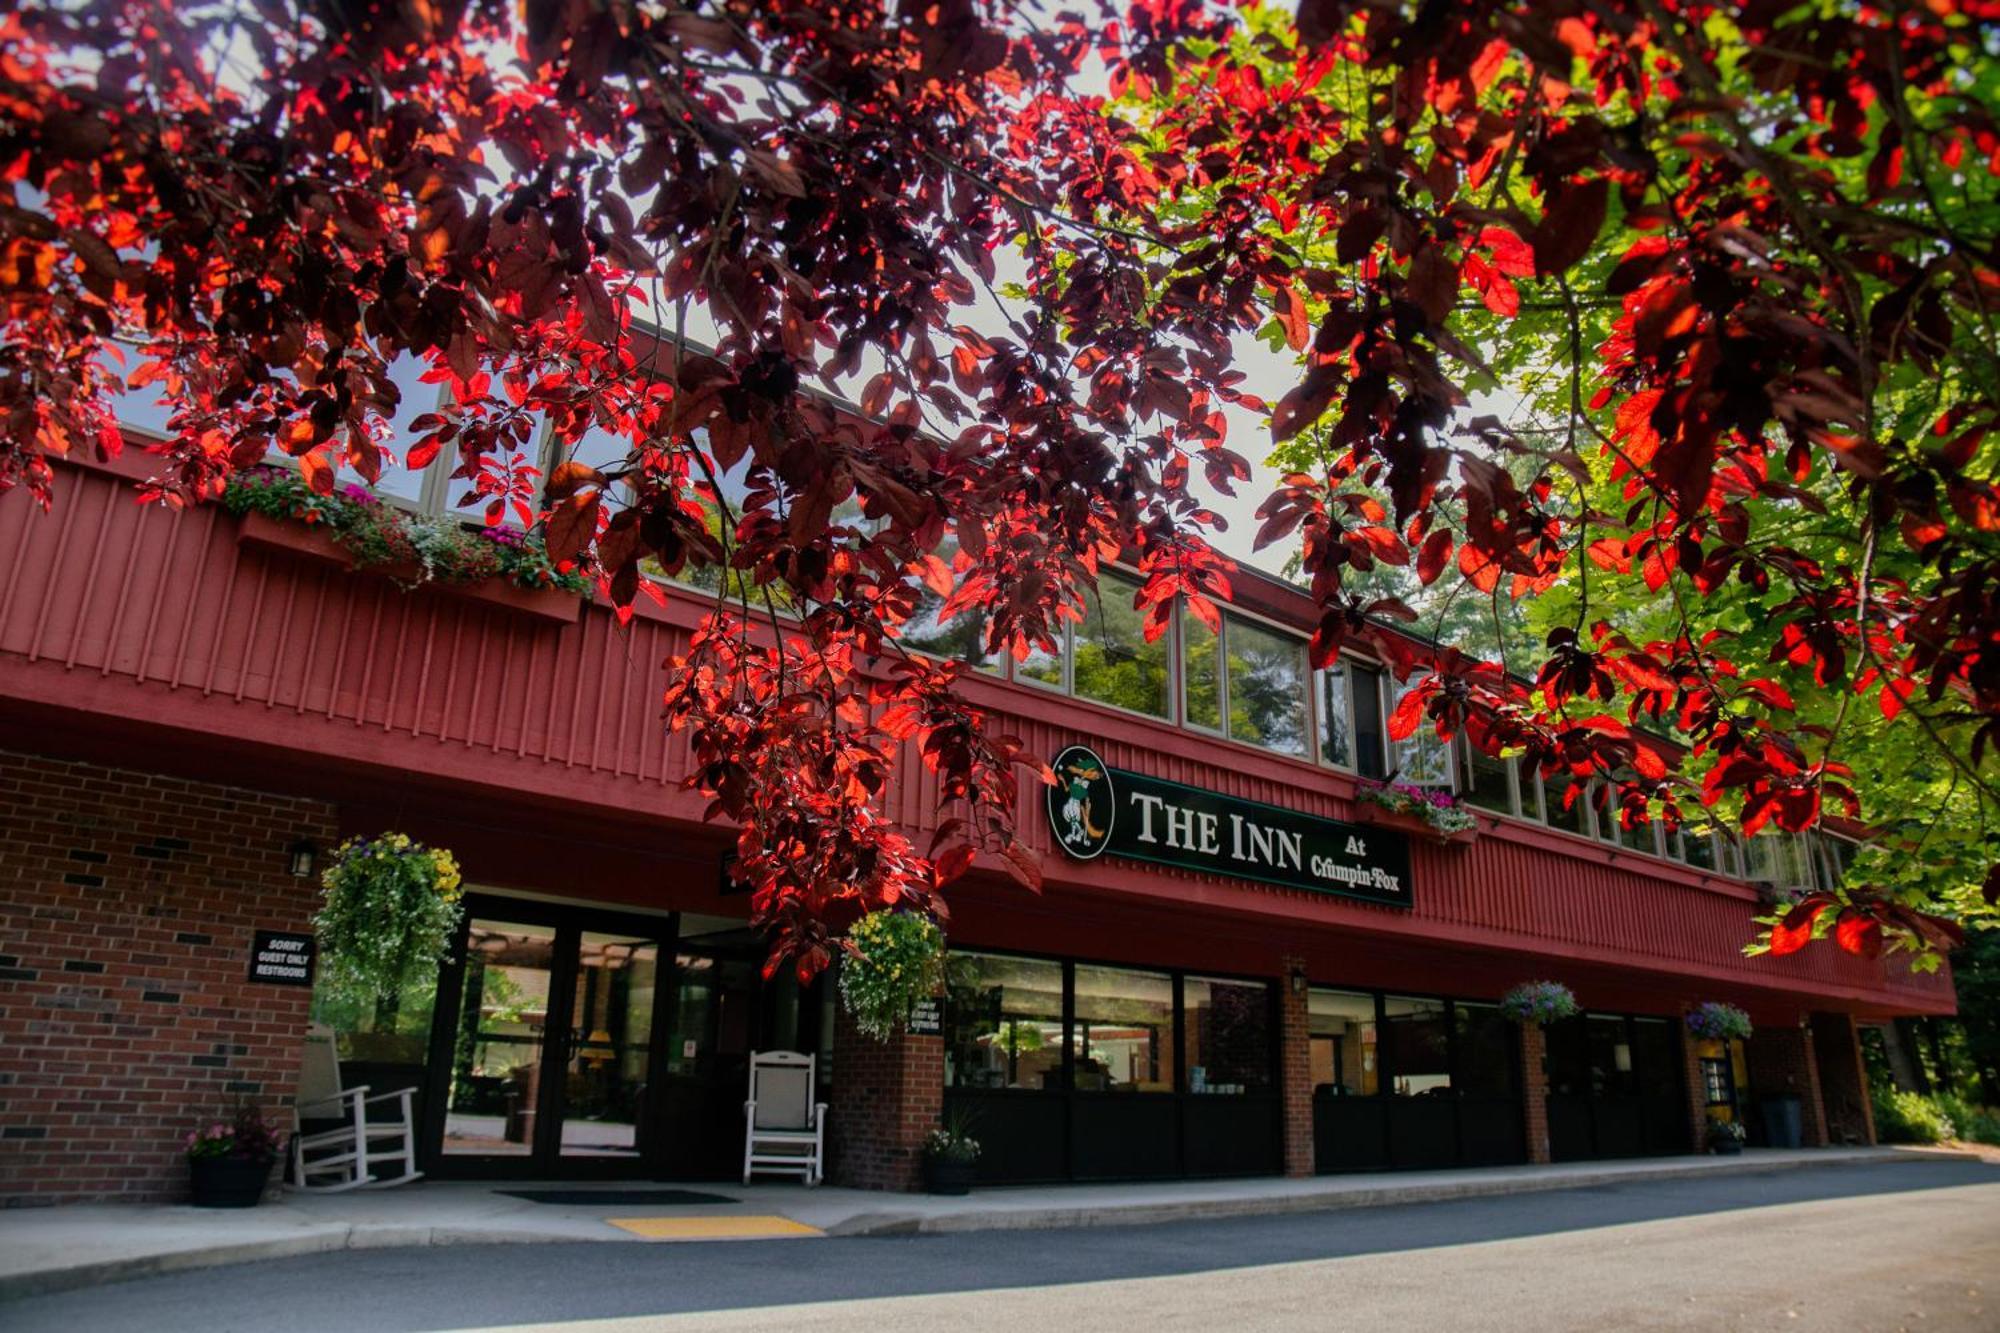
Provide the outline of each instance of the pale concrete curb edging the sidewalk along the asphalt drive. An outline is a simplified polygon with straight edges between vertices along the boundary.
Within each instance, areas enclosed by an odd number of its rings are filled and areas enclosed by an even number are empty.
[[[1686,1159],[1670,1159],[1686,1161]],[[1608,1185],[1706,1179],[1716,1175],[1776,1175],[1812,1167],[1862,1167],[1896,1161],[1986,1161],[1980,1153],[1928,1149],[1910,1155],[1838,1153],[1782,1161],[1712,1161],[1700,1167],[1624,1167],[1568,1175],[1510,1175],[1490,1181],[1450,1181],[1438,1185],[1384,1183],[1374,1189],[1328,1189],[1320,1193],[1254,1195],[1238,1199],[1098,1203],[1090,1207],[990,1207],[966,1213],[862,1213],[824,1227],[830,1237],[908,1237],[968,1231],[1054,1231],[1074,1227],[1144,1227],[1166,1221],[1260,1217],[1292,1213],[1332,1213],[1342,1209],[1392,1207],[1398,1203],[1442,1203],[1450,1199],[1494,1199],[1562,1189],[1602,1189]],[[620,1241],[626,1237],[604,1237]],[[426,1249],[434,1245],[592,1245],[578,1237],[550,1237],[520,1227],[420,1227],[402,1223],[326,1223],[304,1235],[262,1241],[232,1241],[128,1259],[102,1259],[36,1273],[0,1277],[0,1301],[76,1291],[102,1283],[162,1277],[262,1259],[296,1259],[338,1249]]]

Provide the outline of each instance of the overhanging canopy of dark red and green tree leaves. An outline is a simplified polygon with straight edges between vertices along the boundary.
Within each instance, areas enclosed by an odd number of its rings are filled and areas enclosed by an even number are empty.
[[[48,454],[118,450],[110,396],[160,384],[168,502],[270,452],[322,492],[444,454],[618,604],[642,564],[728,566],[668,719],[804,969],[832,917],[942,911],[982,851],[1036,879],[1010,831],[1036,761],[956,662],[898,652],[926,590],[1024,654],[1118,558],[1152,632],[1176,604],[1214,624],[1212,492],[1258,452],[1238,410],[1288,468],[1260,540],[1296,542],[1316,660],[1428,669],[1404,735],[1756,833],[1878,815],[1872,713],[1984,819],[1996,12],[16,10],[0,486],[46,502]],[[1274,404],[1238,366],[1256,332],[1298,358]],[[410,354],[450,404],[398,434]],[[626,456],[538,490],[538,420]],[[1414,612],[1382,568],[1462,588],[1514,652],[1388,632]],[[928,849],[880,809],[908,739],[956,807]],[[1936,885],[1878,889],[1772,945],[1928,939]]]

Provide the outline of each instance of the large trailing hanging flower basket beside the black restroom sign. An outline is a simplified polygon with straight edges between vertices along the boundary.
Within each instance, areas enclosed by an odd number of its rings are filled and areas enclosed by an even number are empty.
[[[322,987],[370,1003],[434,969],[464,913],[452,853],[404,833],[348,839],[320,877],[326,903],[312,919]]]

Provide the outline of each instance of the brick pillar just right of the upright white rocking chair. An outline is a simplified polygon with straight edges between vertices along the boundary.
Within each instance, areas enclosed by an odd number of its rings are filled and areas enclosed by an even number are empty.
[[[870,1041],[844,1003],[834,1013],[834,1091],[826,1109],[832,1181],[920,1189],[924,1135],[944,1115],[944,1039],[896,1033]]]

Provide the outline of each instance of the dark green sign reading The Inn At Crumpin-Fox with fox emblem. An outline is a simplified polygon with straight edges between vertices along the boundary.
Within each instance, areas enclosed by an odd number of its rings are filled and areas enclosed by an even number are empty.
[[[1072,861],[1112,855],[1184,871],[1410,907],[1410,839],[1262,801],[1056,755],[1048,827]]]

